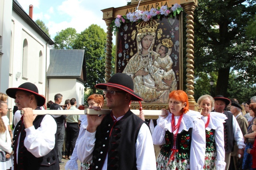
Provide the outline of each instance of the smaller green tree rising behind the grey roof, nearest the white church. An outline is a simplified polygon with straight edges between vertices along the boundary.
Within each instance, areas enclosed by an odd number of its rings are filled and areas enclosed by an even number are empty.
[[[54,37],[54,49],[72,49],[77,37],[76,29],[66,28],[56,33]]]

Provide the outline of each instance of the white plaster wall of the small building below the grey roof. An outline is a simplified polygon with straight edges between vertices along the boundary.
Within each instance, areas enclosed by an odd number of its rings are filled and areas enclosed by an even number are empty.
[[[76,98],[77,106],[84,104],[84,94],[80,93],[80,89],[84,90],[84,84],[76,78],[49,78],[48,82],[47,101],[54,102],[54,95],[60,93],[63,96],[61,105],[71,98]]]

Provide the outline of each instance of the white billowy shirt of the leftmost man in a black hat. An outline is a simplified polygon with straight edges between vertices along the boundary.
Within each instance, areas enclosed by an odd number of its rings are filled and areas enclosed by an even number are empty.
[[[25,129],[26,137],[24,139],[24,146],[36,158],[45,156],[55,145],[55,133],[57,131],[57,124],[51,115],[45,115],[40,123],[40,127],[35,129],[34,126]],[[18,137],[20,141],[20,135]],[[19,142],[17,145],[17,150]],[[18,162],[18,152],[16,154],[16,161]]]

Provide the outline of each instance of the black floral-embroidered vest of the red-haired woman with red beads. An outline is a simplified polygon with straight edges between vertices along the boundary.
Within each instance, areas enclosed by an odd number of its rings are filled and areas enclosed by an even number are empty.
[[[191,146],[192,128],[188,131],[182,130],[178,133],[176,139],[176,149],[178,149],[177,158],[178,159],[188,159],[190,158],[190,146]],[[173,133],[170,131],[165,131],[165,142],[160,153],[166,157],[170,156],[171,149],[173,147]]]

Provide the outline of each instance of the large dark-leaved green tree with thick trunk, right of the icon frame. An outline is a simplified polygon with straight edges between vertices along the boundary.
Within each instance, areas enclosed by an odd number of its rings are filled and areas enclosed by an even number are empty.
[[[198,0],[194,66],[197,72],[218,72],[215,95],[227,96],[231,68],[242,72],[245,79],[253,77],[256,41],[246,36],[245,28],[255,15],[255,2]]]

